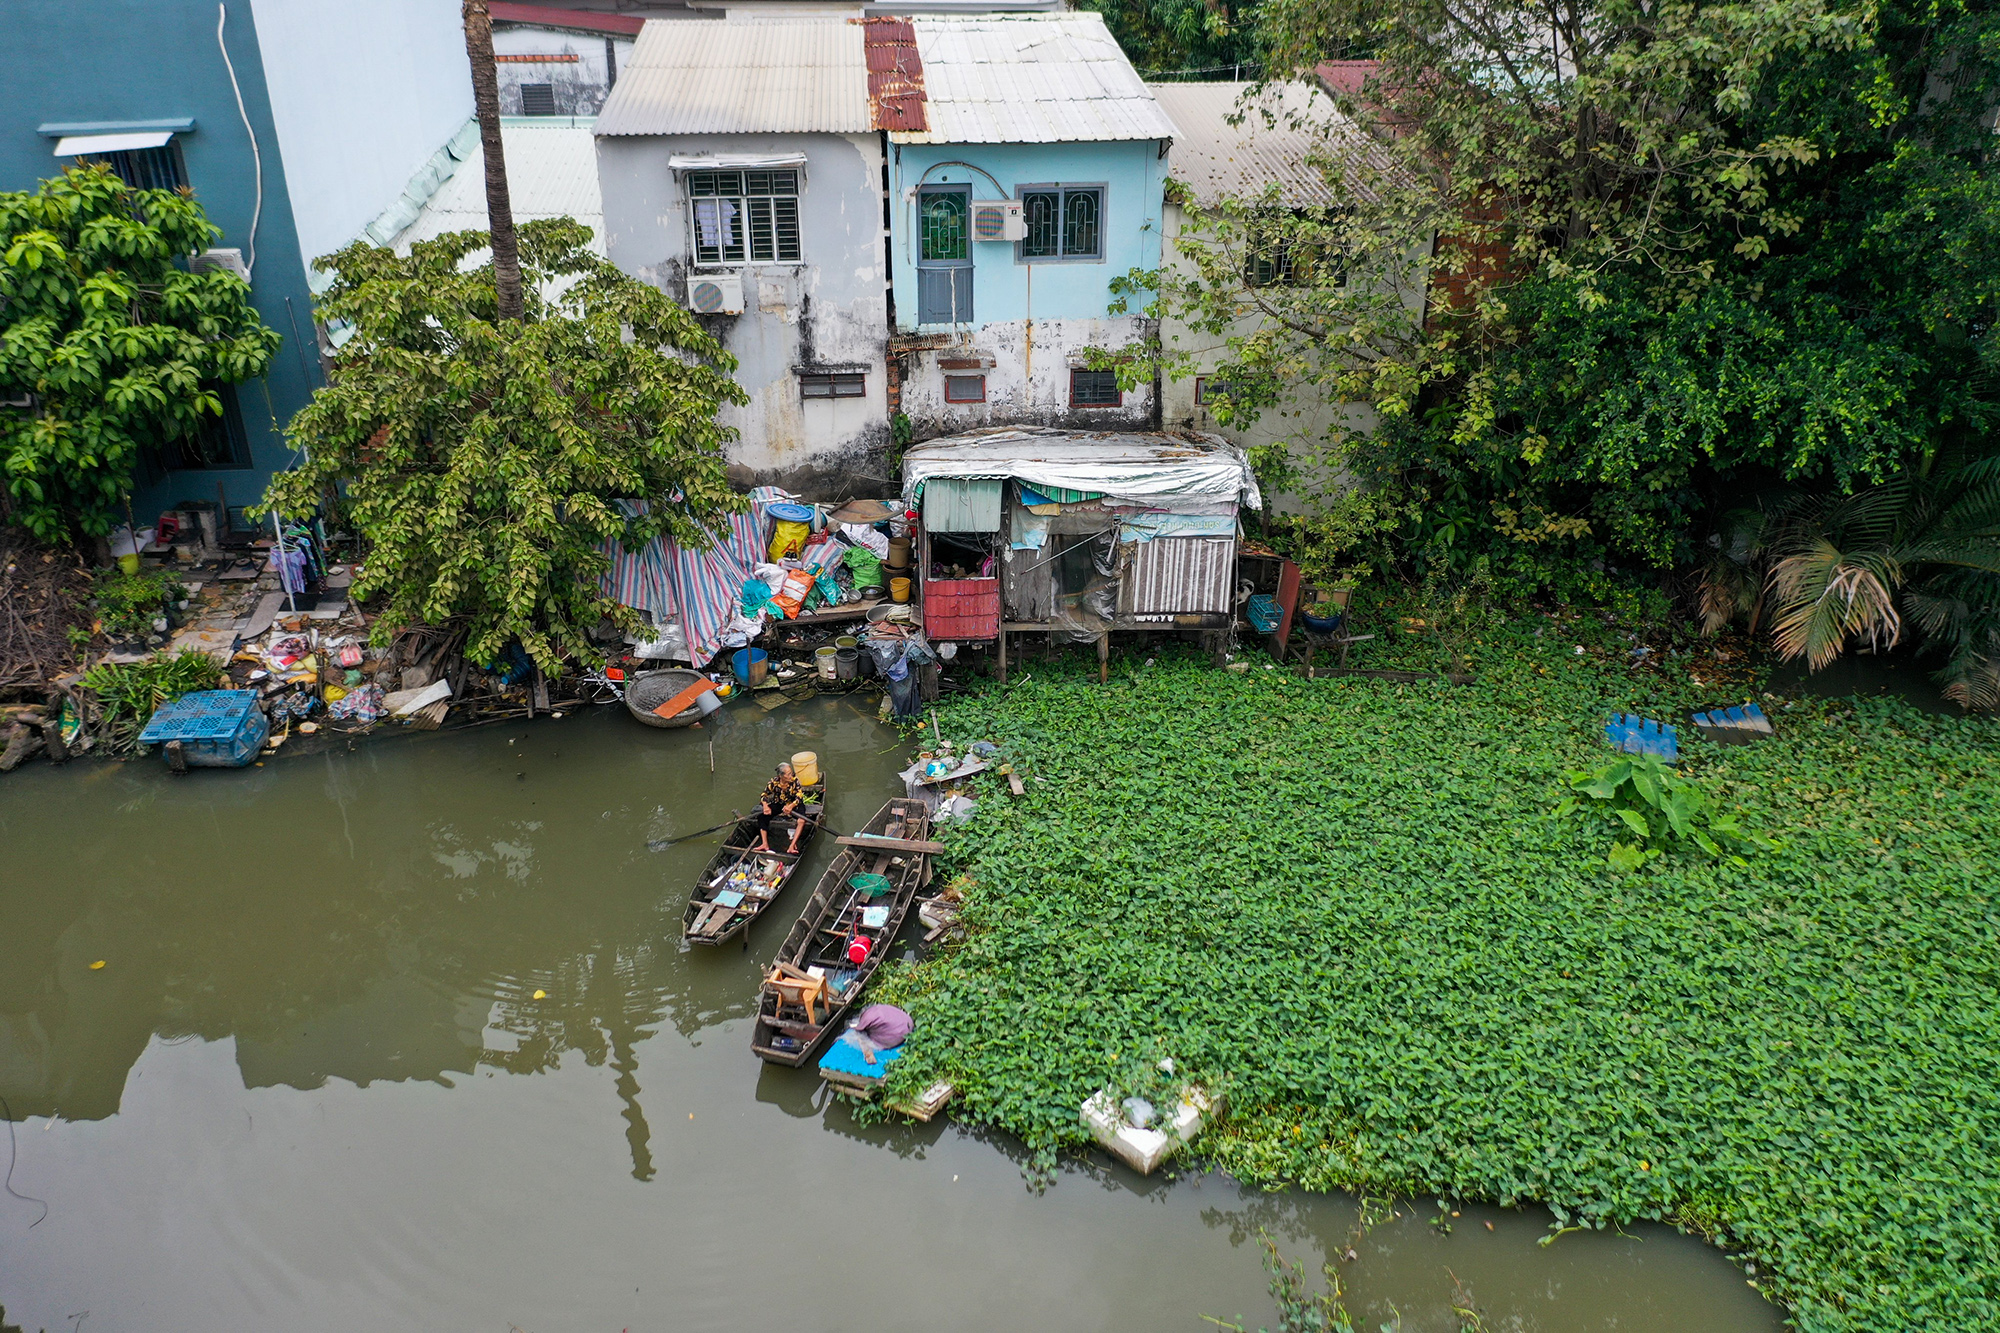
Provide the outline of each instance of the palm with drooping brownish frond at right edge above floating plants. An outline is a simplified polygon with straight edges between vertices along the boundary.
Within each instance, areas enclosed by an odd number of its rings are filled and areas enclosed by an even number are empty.
[[[1946,699],[2000,705],[2000,456],[1798,502],[1764,536],[1778,656],[1820,671],[1914,620]]]

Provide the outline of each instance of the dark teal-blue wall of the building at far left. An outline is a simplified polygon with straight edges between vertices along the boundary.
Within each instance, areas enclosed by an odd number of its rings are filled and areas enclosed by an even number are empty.
[[[270,474],[292,458],[282,424],[312,396],[318,376],[312,298],[248,0],[228,0],[224,36],[264,158],[252,298],[284,346],[264,380],[236,390],[252,466],[168,472],[162,482],[140,486],[132,496],[140,524],[178,500],[214,500],[218,482],[228,504],[260,498]],[[6,0],[6,40],[0,190],[32,190],[66,166],[52,156],[54,140],[36,132],[40,124],[192,116],[194,130],[180,136],[188,182],[208,220],[222,228],[216,244],[250,250],[256,170],[216,46],[216,0]],[[304,342],[294,340],[294,320]]]

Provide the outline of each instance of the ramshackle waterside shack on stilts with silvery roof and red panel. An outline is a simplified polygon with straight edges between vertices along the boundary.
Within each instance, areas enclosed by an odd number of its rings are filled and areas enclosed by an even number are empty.
[[[924,632],[994,642],[1002,681],[1016,632],[1094,640],[1102,664],[1114,630],[1192,630],[1220,656],[1236,512],[1260,502],[1228,440],[988,428],[912,444],[902,476]]]

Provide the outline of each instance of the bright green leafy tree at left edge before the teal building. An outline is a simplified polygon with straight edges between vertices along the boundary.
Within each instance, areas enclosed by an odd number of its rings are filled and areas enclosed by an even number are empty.
[[[40,540],[106,534],[140,450],[198,436],[216,386],[270,364],[250,284],[186,268],[220,236],[194,194],[104,166],[0,192],[0,468]]]

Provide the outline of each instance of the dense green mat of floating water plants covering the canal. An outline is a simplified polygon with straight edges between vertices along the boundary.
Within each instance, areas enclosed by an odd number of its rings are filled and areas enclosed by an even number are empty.
[[[1782,847],[1614,875],[1606,825],[1546,819],[1606,713],[1744,699],[1626,646],[1526,620],[1458,689],[1162,656],[960,697],[946,735],[1038,781],[946,835],[974,931],[884,987],[918,1019],[896,1083],[1056,1149],[1174,1055],[1246,1181],[1668,1219],[1800,1329],[2000,1327],[2000,723],[1684,727],[1682,771]]]

